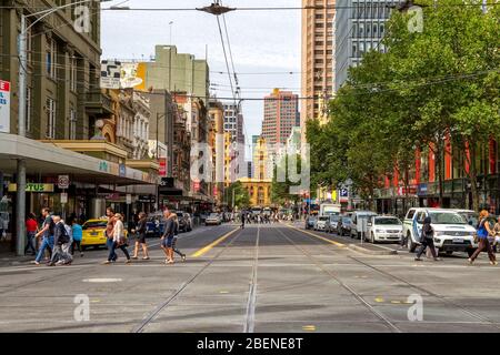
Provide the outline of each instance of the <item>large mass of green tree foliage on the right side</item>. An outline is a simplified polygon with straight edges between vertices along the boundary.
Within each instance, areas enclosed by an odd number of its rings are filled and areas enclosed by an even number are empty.
[[[446,139],[472,153],[499,135],[500,7],[484,14],[480,6],[454,6],[461,0],[424,3],[423,32],[411,33],[410,16],[393,11],[382,41],[387,52],[370,51],[350,69],[326,126],[308,123],[313,186],[349,176],[370,200],[383,175],[398,172],[408,184],[418,148],[440,160]],[[464,173],[474,180],[477,169],[467,163]],[[437,174],[441,185],[441,169]]]

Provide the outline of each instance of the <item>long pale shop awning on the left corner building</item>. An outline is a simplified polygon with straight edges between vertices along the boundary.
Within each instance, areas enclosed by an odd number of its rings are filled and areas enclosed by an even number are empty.
[[[91,184],[156,184],[156,178],[140,170],[76,153],[50,143],[0,133],[0,171],[16,173],[17,160],[24,159],[27,174],[69,174],[73,181]]]

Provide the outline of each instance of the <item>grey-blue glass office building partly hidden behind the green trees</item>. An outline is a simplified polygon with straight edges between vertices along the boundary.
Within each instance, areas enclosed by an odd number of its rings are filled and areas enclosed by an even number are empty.
[[[336,91],[348,79],[350,67],[357,67],[370,50],[384,51],[380,43],[386,33],[386,21],[396,1],[337,0],[334,73]]]

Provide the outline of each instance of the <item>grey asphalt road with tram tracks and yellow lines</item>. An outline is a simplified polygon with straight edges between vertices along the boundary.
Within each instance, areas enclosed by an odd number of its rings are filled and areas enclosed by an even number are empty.
[[[486,255],[372,256],[286,224],[200,227],[174,265],[149,243],[151,260],[129,265],[102,265],[101,250],[1,266],[0,332],[500,332],[500,268]]]

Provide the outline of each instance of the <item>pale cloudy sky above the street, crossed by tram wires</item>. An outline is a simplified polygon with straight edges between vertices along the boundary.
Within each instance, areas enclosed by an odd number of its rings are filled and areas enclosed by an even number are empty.
[[[130,8],[184,8],[209,6],[212,0],[116,0],[102,4]],[[300,0],[224,0],[228,7],[300,7]],[[173,24],[169,23],[173,21]],[[224,27],[220,17],[222,33]],[[263,98],[272,88],[300,94],[300,10],[233,11],[226,14],[234,70],[242,98]],[[170,43],[170,28],[172,43]],[[156,44],[174,44],[179,53],[206,58],[211,90],[219,98],[231,98],[217,18],[200,11],[102,11],[102,59],[149,60]],[[228,50],[228,48],[227,48]],[[229,53],[228,53],[229,55]],[[231,64],[230,64],[231,65]],[[232,68],[231,68],[232,71]],[[278,73],[277,73],[278,72]],[[289,72],[294,72],[290,74]],[[264,74],[262,74],[264,73]],[[261,133],[263,101],[243,101],[247,144]]]

